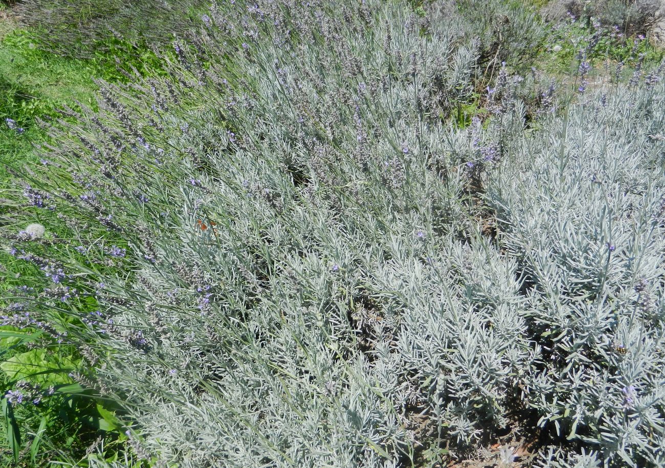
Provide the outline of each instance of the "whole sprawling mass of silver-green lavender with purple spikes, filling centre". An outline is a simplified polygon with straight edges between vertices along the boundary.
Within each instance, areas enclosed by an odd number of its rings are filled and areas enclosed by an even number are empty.
[[[662,70],[555,98],[423,12],[215,4],[170,78],[54,128],[25,191],[74,235],[11,249],[98,304],[33,326],[94,366],[72,378],[122,403],[134,459],[665,463]]]

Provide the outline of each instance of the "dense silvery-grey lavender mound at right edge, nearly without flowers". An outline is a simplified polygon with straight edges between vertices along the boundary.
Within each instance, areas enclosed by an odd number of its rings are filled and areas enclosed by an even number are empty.
[[[663,96],[618,87],[572,105],[487,186],[542,346],[525,401],[628,465],[664,463]]]

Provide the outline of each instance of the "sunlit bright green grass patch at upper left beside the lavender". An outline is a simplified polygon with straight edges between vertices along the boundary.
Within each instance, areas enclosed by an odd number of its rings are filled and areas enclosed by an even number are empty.
[[[43,50],[35,35],[12,29],[8,23],[0,19],[5,27],[0,36],[0,190],[9,178],[7,168],[35,162],[34,146],[48,141],[38,120],[57,118],[59,109],[77,109],[79,104],[95,110],[97,86],[93,78],[127,80],[116,58],[126,71],[134,67],[144,75],[164,72],[152,51],[115,38],[104,44],[104,55],[80,60]],[[5,118],[15,120],[25,132],[17,134],[8,128]]]

